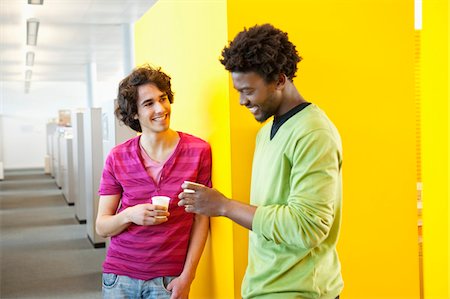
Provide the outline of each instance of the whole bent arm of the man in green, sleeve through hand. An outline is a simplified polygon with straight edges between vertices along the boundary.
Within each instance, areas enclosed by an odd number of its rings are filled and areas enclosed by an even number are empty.
[[[179,194],[187,212],[225,216],[267,240],[303,248],[315,247],[328,235],[339,190],[337,146],[323,130],[299,141],[292,160],[286,204],[251,206],[215,189],[184,183],[195,193]]]

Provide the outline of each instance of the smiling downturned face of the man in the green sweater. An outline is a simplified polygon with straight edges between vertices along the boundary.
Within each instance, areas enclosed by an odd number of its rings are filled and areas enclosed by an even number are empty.
[[[278,116],[281,92],[277,82],[267,83],[255,72],[232,72],[234,88],[239,92],[239,103],[247,107],[259,122],[272,115]]]

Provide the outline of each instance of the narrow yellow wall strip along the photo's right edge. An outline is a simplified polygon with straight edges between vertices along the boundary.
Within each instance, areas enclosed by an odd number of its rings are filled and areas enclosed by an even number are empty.
[[[450,298],[448,1],[423,1],[422,177],[426,299]]]

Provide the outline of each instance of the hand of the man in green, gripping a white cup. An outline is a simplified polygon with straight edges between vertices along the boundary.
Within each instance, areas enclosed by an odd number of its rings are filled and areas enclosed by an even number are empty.
[[[183,189],[194,190],[194,193],[181,192],[178,198],[179,206],[183,206],[186,212],[197,213],[206,216],[224,216],[229,199],[214,188],[208,188],[199,184],[185,182]]]

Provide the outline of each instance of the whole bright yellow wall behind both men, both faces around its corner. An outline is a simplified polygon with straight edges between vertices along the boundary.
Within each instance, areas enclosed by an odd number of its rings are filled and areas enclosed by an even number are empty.
[[[217,58],[265,22],[289,32],[297,87],[343,137],[342,298],[418,298],[413,2],[160,0],[136,24],[137,64],[173,77],[173,127],[211,143],[215,186],[244,202],[259,125]],[[191,298],[240,298],[247,231],[224,219],[211,231]]]

